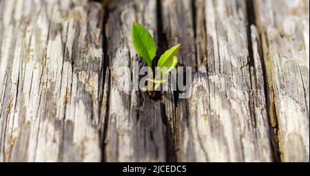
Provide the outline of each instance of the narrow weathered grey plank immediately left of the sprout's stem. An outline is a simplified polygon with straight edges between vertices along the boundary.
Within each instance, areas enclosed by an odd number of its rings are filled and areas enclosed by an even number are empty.
[[[121,5],[119,5],[121,4]],[[114,1],[105,26],[110,69],[110,96],[105,138],[107,162],[165,162],[166,127],[161,115],[161,102],[151,100],[141,91],[134,91],[137,65],[142,62],[132,45],[132,24],[142,23],[156,39],[156,1]],[[130,69],[121,91],[119,67]]]

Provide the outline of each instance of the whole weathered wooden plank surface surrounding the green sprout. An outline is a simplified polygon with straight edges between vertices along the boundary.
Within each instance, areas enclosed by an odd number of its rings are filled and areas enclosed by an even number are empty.
[[[0,0],[0,13],[0,162],[309,162],[309,0]],[[134,21],[157,56],[181,43],[190,98],[132,91]]]

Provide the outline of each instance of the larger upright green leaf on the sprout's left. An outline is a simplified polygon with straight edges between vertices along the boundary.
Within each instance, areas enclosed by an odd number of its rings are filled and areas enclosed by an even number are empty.
[[[139,23],[132,25],[132,43],[147,66],[152,67],[152,60],[156,56],[156,45],[152,35]]]

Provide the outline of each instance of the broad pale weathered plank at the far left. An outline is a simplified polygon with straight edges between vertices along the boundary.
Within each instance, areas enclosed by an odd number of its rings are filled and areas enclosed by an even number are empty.
[[[101,4],[0,4],[0,162],[101,161]]]

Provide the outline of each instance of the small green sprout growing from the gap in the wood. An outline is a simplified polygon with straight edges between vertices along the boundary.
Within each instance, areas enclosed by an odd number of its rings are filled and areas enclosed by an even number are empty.
[[[178,50],[180,50],[180,44],[167,50],[157,63],[156,76],[154,78],[152,72],[152,61],[156,56],[156,45],[151,34],[144,28],[143,25],[139,23],[134,23],[132,25],[132,43],[134,48],[143,61],[147,63],[149,67],[149,78],[152,84],[148,84],[147,87],[143,87],[142,90],[147,92],[149,96],[154,96],[154,91],[161,86],[161,83],[165,83],[167,80],[162,79],[164,74],[169,73],[176,64],[178,63],[178,58],[175,56]]]

